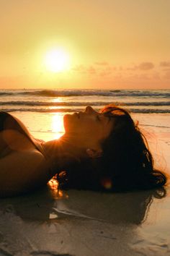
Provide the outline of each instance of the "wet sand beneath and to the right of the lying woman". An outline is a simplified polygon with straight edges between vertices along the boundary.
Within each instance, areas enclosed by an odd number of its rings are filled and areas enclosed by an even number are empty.
[[[156,166],[170,174],[170,116],[149,117],[138,115],[140,125]],[[169,185],[114,194],[50,185],[0,200],[0,255],[170,255]]]

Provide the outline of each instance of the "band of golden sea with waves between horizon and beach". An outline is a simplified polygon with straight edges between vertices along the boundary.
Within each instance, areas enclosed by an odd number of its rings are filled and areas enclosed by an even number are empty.
[[[135,113],[170,113],[170,90],[0,90],[4,111],[73,112],[115,103]]]

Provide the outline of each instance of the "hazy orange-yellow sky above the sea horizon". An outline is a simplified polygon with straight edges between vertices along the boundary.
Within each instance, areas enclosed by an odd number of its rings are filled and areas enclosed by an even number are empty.
[[[169,0],[0,0],[0,24],[0,89],[170,89]]]

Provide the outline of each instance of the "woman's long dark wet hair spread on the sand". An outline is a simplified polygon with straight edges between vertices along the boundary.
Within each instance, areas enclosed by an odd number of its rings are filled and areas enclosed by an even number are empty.
[[[114,121],[112,132],[102,141],[102,157],[72,161],[56,175],[60,187],[112,192],[164,186],[166,175],[153,168],[146,137],[129,112],[113,105],[100,112]]]

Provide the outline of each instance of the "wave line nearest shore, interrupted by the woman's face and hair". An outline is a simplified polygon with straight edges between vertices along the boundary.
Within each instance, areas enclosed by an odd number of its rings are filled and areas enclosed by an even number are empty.
[[[25,112],[44,112],[44,113],[73,113],[82,111],[82,108],[3,108],[2,111],[14,112],[14,111],[25,111]],[[99,109],[97,109],[99,110]],[[159,113],[159,114],[170,114],[170,109],[159,109],[159,108],[128,108],[128,111],[132,113]]]

